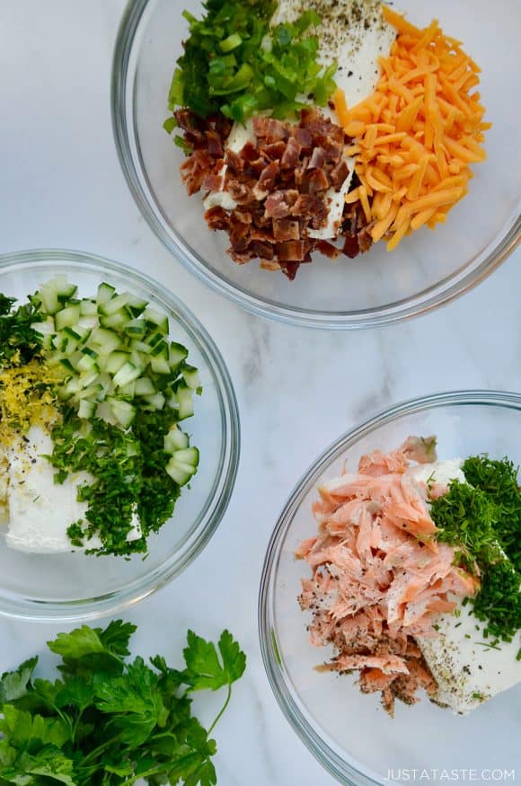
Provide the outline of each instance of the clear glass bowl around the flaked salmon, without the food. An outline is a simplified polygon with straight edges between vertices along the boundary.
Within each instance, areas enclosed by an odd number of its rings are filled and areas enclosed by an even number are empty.
[[[394,406],[344,434],[297,484],[264,562],[259,617],[269,682],[296,733],[343,783],[413,781],[423,771],[427,774],[422,780],[437,781],[441,771],[453,770],[459,776],[452,780],[487,780],[486,773],[479,774],[485,770],[490,780],[490,771],[505,773],[519,764],[513,743],[521,737],[521,684],[464,717],[424,697],[412,707],[397,702],[391,719],[376,694],[359,692],[354,677],[313,669],[327,659],[327,649],[309,643],[308,619],[297,602],[300,579],[309,570],[293,555],[296,546],[316,532],[311,512],[316,487],[338,476],[346,459],[349,467],[356,467],[361,455],[376,447],[392,449],[411,434],[436,434],[440,458],[487,452],[521,464],[521,395],[438,393]]]

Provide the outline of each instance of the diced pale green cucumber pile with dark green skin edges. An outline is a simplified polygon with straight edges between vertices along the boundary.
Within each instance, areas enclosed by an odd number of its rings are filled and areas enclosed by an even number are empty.
[[[106,282],[95,298],[75,293],[58,277],[33,296],[42,314],[49,314],[36,323],[49,347],[46,362],[67,372],[60,400],[74,402],[85,422],[96,415],[122,428],[129,427],[137,408],[162,410],[167,402],[176,419],[190,417],[199,372],[185,363],[188,349],[168,340],[166,314]],[[187,482],[197,465],[196,453],[182,453],[191,450],[189,437],[172,428],[164,444],[172,457],[181,451],[172,472]]]

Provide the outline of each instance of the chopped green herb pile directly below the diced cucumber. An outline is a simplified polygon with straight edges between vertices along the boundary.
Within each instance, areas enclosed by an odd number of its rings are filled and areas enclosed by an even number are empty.
[[[67,529],[71,543],[85,545],[97,535],[99,554],[129,555],[146,552],[146,537],[172,516],[181,490],[165,472],[169,455],[164,436],[175,422],[171,409],[137,412],[127,431],[99,418],[85,423],[74,410],[64,411],[63,422],[52,430],[53,452],[49,462],[58,470],[58,481],[69,472],[90,472],[92,483],[78,487],[78,500],[88,503],[85,522]],[[141,537],[128,540],[139,518]]]

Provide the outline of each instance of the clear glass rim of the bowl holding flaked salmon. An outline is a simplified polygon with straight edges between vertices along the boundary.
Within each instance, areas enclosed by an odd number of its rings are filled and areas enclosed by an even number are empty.
[[[521,393],[499,390],[455,390],[443,393],[432,393],[408,399],[379,411],[363,423],[350,428],[326,447],[297,481],[291,491],[277,524],[269,538],[261,573],[257,614],[259,624],[259,640],[261,656],[269,685],[278,706],[285,715],[290,726],[304,742],[307,749],[322,766],[340,783],[363,784],[363,786],[381,786],[376,773],[369,770],[358,770],[355,764],[349,764],[337,751],[328,745],[321,735],[313,728],[306,718],[301,702],[290,687],[287,670],[278,650],[275,633],[274,587],[276,568],[280,549],[284,543],[289,527],[308,491],[316,485],[316,480],[323,470],[355,445],[361,437],[370,434],[378,426],[391,422],[404,414],[437,409],[444,406],[490,405],[521,411]]]

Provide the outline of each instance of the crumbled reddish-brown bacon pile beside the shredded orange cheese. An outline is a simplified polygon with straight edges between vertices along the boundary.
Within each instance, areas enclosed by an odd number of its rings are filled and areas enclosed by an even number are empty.
[[[229,120],[203,120],[188,110],[178,111],[176,119],[192,150],[181,165],[189,194],[225,190],[236,203],[234,209],[216,207],[205,214],[211,229],[228,233],[234,261],[258,258],[263,268],[280,269],[293,279],[313,251],[330,259],[340,253],[352,258],[371,245],[359,202],[344,208],[340,247],[309,235],[327,225],[328,192],[340,191],[349,175],[343,156],[349,137],[320,110],[302,110],[298,123],[253,118],[256,142],[239,152],[226,147]],[[351,189],[357,181],[354,175]]]

